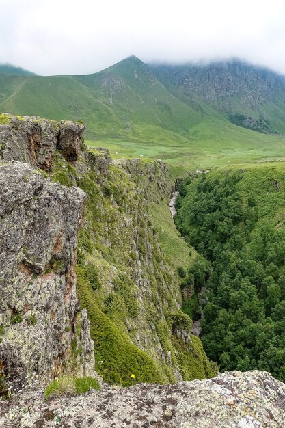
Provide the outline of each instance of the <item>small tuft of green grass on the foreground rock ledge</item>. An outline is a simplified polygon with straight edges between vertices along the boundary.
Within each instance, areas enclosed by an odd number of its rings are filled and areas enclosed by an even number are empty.
[[[94,377],[72,377],[62,375],[54,379],[44,391],[44,399],[59,395],[84,394],[90,390],[100,390],[100,384]]]

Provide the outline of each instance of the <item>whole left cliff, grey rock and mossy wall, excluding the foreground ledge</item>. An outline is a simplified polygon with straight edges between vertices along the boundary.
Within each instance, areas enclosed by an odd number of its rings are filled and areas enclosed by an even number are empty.
[[[46,379],[74,366],[91,373],[92,340],[96,370],[106,382],[132,384],[132,373],[135,382],[214,375],[189,333],[176,273],[148,212],[150,202],[163,200],[167,207],[167,166],[113,163],[107,150],[88,152],[82,124],[1,118],[0,358],[6,377],[23,382],[37,373]]]

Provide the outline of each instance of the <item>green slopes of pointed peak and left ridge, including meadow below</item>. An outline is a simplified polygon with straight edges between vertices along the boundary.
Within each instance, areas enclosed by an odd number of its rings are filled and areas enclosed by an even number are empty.
[[[232,124],[226,113],[198,94],[191,104],[182,90],[167,90],[146,64],[129,57],[94,75],[0,76],[0,111],[80,119],[87,124],[90,146],[188,168],[283,157],[283,136]],[[281,101],[279,109],[281,118]],[[271,113],[273,123],[273,109]],[[279,116],[274,120],[281,131]]]

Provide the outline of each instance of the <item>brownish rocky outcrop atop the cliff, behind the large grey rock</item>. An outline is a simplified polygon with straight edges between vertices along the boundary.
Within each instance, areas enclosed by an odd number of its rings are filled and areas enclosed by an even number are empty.
[[[7,116],[7,124],[0,126],[0,160],[26,162],[49,171],[59,150],[68,161],[77,161],[84,129],[84,124],[67,120]]]

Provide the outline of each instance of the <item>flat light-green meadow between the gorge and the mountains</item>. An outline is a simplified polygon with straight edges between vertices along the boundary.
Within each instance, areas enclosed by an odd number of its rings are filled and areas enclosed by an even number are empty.
[[[114,158],[161,159],[176,167],[190,170],[214,168],[219,165],[285,159],[285,138],[281,135],[264,135],[236,125],[212,119],[193,128],[191,139],[173,141],[167,135],[163,141],[152,134],[152,142],[122,139],[87,140],[87,146],[101,146],[110,150]],[[175,136],[174,136],[175,137]]]

